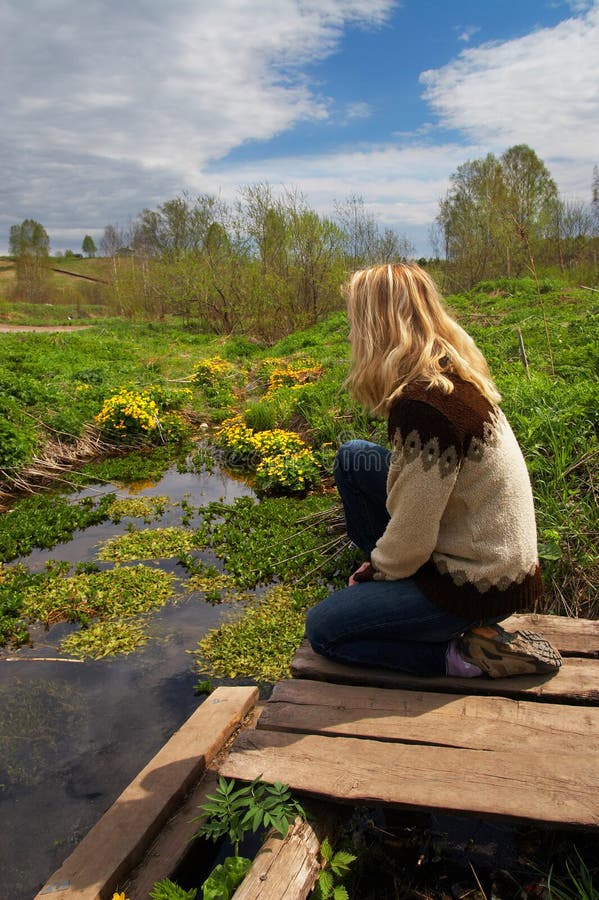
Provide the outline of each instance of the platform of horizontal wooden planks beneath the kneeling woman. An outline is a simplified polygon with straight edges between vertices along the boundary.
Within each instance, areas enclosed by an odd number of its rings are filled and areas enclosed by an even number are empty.
[[[554,676],[420,678],[302,645],[223,761],[351,804],[599,827],[599,622],[514,616],[564,655]]]

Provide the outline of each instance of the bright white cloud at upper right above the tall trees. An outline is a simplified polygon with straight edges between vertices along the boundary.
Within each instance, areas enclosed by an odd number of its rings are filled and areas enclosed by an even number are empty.
[[[553,28],[464,50],[422,74],[424,96],[447,128],[491,150],[529,144],[561,170],[562,190],[580,191],[599,147],[598,48],[595,2]]]

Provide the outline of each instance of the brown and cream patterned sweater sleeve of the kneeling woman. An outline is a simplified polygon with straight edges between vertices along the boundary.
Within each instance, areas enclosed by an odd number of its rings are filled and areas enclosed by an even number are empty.
[[[390,519],[371,555],[374,578],[386,581],[408,578],[430,559],[462,459],[455,428],[426,402],[400,398],[389,431]]]

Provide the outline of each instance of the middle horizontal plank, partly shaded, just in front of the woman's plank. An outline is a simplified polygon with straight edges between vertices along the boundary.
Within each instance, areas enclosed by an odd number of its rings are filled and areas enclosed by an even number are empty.
[[[599,708],[303,679],[276,685],[258,728],[471,750],[599,753]]]

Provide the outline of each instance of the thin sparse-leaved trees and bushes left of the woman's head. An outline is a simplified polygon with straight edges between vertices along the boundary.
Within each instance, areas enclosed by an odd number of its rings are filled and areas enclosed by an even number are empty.
[[[264,183],[233,205],[202,194],[145,209],[124,231],[108,226],[100,248],[113,260],[122,314],[175,312],[208,331],[267,339],[337,309],[349,269],[413,253],[361,197],[321,216],[299,192],[275,196]]]

